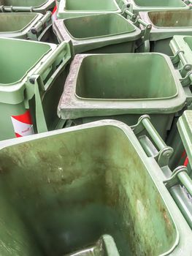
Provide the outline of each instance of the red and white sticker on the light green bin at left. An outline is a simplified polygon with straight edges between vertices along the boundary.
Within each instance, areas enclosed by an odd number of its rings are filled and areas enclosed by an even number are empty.
[[[26,110],[26,112],[22,115],[11,116],[11,118],[16,137],[23,137],[34,134],[34,126],[32,124],[29,110]]]

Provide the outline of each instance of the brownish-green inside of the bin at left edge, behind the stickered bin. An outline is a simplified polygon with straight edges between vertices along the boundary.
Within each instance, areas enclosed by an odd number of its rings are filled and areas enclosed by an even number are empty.
[[[0,13],[0,33],[20,31],[37,17],[36,13]]]

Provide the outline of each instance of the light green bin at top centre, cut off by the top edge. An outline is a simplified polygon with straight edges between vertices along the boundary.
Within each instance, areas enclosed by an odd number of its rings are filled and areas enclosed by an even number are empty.
[[[125,1],[125,0],[120,0]],[[58,19],[72,18],[97,13],[121,13],[116,0],[60,0],[58,1]]]

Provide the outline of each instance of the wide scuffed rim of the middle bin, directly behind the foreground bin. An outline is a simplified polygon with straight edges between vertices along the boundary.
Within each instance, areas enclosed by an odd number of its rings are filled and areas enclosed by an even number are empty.
[[[90,99],[80,98],[76,94],[76,80],[82,60],[87,56],[104,55],[160,55],[166,59],[170,67],[177,93],[174,97],[152,99]],[[186,96],[174,67],[168,56],[163,53],[112,53],[112,54],[77,54],[72,61],[72,67],[66,78],[64,92],[58,104],[58,116],[61,118],[82,118],[88,116],[110,116],[125,113],[176,113],[183,109]],[[75,67],[74,67],[75,66]],[[83,112],[83,113],[82,113]],[[90,112],[90,113],[88,113]]]

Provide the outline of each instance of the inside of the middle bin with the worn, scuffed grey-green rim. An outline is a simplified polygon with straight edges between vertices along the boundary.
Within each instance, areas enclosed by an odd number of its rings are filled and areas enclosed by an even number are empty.
[[[86,56],[77,74],[76,95],[81,98],[155,99],[175,94],[169,64],[158,53]]]

